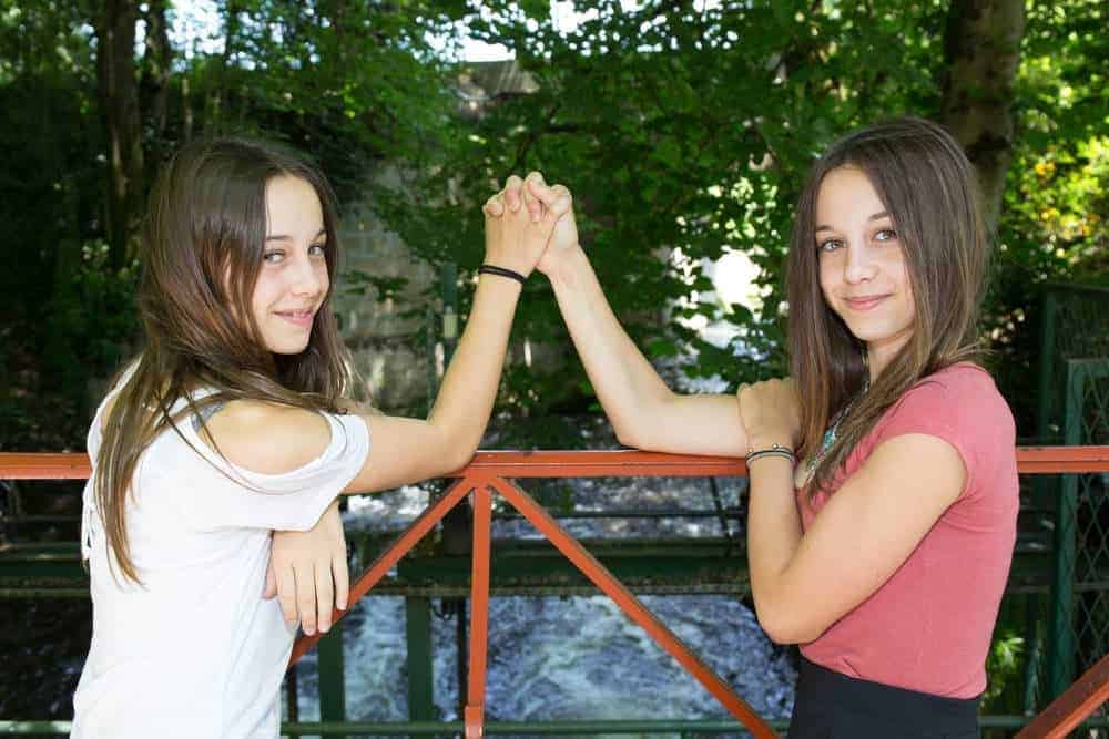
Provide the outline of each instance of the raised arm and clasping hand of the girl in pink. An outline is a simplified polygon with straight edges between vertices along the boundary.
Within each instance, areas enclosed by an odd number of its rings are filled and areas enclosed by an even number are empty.
[[[579,244],[569,199],[564,187],[548,187],[535,173],[528,176],[525,192],[505,191],[508,214],[513,207],[542,204],[553,208],[566,203],[567,213],[556,225],[538,268],[551,281],[574,348],[617,438],[650,451],[742,455],[746,437],[735,397],[674,393],[628,337]]]

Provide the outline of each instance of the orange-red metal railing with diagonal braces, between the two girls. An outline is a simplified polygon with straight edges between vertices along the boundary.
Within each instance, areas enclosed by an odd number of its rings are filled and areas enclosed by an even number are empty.
[[[1109,472],[1109,447],[1028,447],[1017,450],[1017,468],[1024,474]],[[83,479],[90,473],[84,454],[0,453],[0,479]],[[570,536],[530,495],[509,478],[599,476],[726,476],[744,475],[746,468],[732,458],[671,455],[651,452],[479,452],[470,464],[451,476],[459,478],[375,561],[355,582],[350,603],[366,595],[397,562],[438,523],[448,511],[474,493],[474,550],[470,602],[470,663],[465,709],[466,736],[481,737],[485,722],[486,658],[489,617],[489,556],[491,548],[491,493],[497,492],[546,536],[582,574],[620,606],[659,646],[671,654],[736,720],[759,739],[777,735],[712,671],[676,635],[624,587],[577,540]],[[343,612],[336,610],[337,622]],[[299,638],[293,664],[319,638]],[[1038,716],[1021,737],[1062,736],[1077,726],[1109,694],[1109,658]],[[1035,730],[1034,730],[1034,727]]]

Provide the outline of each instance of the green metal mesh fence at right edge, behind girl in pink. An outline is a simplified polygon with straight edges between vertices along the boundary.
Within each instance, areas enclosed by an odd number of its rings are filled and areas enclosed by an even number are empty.
[[[1109,289],[1049,285],[1040,324],[1037,442],[1109,440]],[[1025,710],[1042,708],[1109,645],[1106,475],[1039,478],[1029,504],[1052,531],[1048,599],[1027,602]],[[1101,709],[1105,717],[1105,709]]]

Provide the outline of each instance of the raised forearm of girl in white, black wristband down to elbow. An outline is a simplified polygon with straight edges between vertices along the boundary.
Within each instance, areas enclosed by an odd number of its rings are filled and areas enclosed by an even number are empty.
[[[465,463],[485,433],[521,289],[516,280],[496,275],[478,279],[469,320],[428,417],[449,460]]]

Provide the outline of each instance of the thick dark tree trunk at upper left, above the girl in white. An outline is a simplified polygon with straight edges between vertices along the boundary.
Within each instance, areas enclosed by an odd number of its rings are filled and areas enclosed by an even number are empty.
[[[135,22],[139,3],[104,0],[94,22],[96,82],[108,143],[108,218],[111,261],[122,267],[129,254],[142,193],[143,151],[135,81]]]

